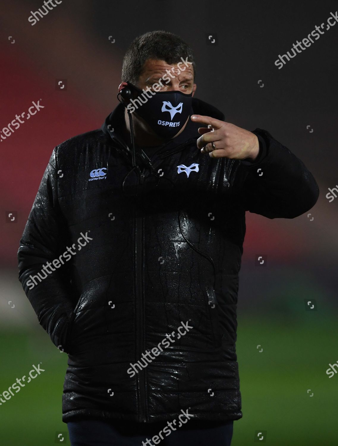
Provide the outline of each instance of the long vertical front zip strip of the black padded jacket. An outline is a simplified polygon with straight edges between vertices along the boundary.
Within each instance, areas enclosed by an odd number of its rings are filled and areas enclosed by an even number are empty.
[[[144,169],[145,170],[145,169]],[[141,173],[140,184],[144,180],[144,170]],[[143,310],[143,296],[142,296],[142,220],[143,217],[135,217],[135,239],[136,239],[136,340],[138,342],[137,357],[141,359],[141,355],[144,352],[144,310]],[[139,422],[146,422],[146,388],[145,388],[145,370],[142,368],[138,372],[138,386],[139,386],[139,396],[140,396],[140,411],[139,411]]]

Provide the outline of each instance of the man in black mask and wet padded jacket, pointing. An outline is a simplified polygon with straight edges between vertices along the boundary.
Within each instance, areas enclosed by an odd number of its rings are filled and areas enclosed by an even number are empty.
[[[136,38],[121,103],[54,149],[29,214],[19,280],[69,355],[73,446],[230,445],[245,211],[291,219],[318,198],[270,133],[193,97],[195,74],[180,37]]]

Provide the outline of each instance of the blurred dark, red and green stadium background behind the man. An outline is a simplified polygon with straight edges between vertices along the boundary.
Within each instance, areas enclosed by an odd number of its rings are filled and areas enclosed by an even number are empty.
[[[194,50],[195,97],[239,127],[268,130],[320,189],[309,216],[247,213],[237,342],[243,418],[232,444],[256,442],[258,432],[274,446],[338,444],[338,376],[326,375],[338,361],[338,198],[326,198],[338,184],[338,23],[326,30],[337,2],[63,0],[32,26],[28,17],[42,4],[1,2],[0,130],[32,101],[44,108],[0,142],[0,393],[32,364],[45,372],[0,405],[0,443],[52,445],[67,430],[66,354],[38,325],[17,279],[16,252],[42,174],[55,145],[99,128],[115,108],[131,41],[162,29]],[[279,70],[278,55],[322,22],[324,34]],[[57,90],[56,79],[67,88]],[[8,212],[17,213],[13,223]],[[267,256],[264,266],[255,266],[259,255]]]

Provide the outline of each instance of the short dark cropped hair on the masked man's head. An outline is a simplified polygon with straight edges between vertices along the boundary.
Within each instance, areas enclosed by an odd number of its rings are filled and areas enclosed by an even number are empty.
[[[193,62],[194,78],[196,67],[194,54],[190,46],[181,37],[166,31],[151,31],[136,37],[124,55],[122,65],[122,82],[137,85],[140,74],[147,59],[164,60],[173,65],[180,62],[181,57]]]

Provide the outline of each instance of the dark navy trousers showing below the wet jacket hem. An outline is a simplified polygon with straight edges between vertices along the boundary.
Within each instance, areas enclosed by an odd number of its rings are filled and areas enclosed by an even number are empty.
[[[166,429],[165,426],[167,426]],[[181,427],[166,421],[81,420],[67,423],[71,446],[230,446],[233,421],[189,420]]]

